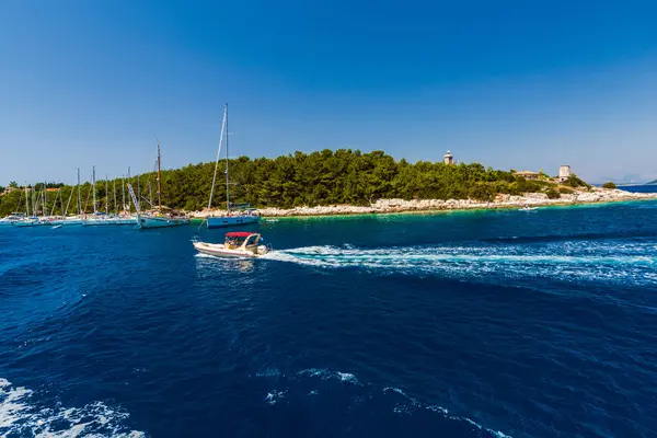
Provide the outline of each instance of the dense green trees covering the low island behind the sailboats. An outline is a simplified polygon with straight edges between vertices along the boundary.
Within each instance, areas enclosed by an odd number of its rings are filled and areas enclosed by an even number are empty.
[[[226,206],[224,165],[220,163],[217,174],[214,207]],[[379,198],[492,200],[500,193],[521,195],[528,192],[560,196],[556,185],[549,182],[546,175],[541,181],[529,181],[512,171],[486,169],[479,163],[448,165],[419,161],[412,164],[403,159],[395,161],[382,151],[323,150],[255,160],[241,157],[230,161],[229,171],[231,203],[249,203],[256,207],[368,205]],[[162,205],[185,210],[207,207],[214,172],[215,163],[162,171]],[[149,208],[150,203],[158,205],[157,175],[151,172],[129,180],[97,181],[97,209],[120,210],[126,183],[139,192],[142,208]],[[577,187],[586,183],[573,176],[566,185]],[[83,184],[79,191],[61,184],[46,186],[49,188],[46,191],[46,205],[49,208],[55,205],[56,212],[66,209],[67,204],[70,204],[69,214],[78,212],[79,204],[84,211],[93,211],[91,184]],[[567,189],[563,192],[564,188],[561,193],[567,193]],[[38,193],[43,196],[43,183],[36,184],[28,194],[31,203]],[[127,191],[125,201],[131,204]],[[1,215],[16,209],[25,210],[24,194],[20,189],[0,198]]]

